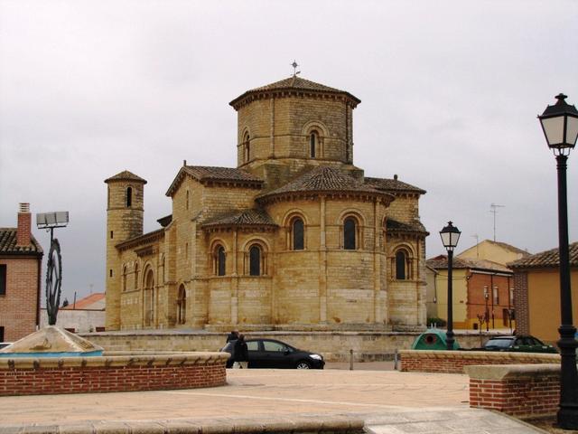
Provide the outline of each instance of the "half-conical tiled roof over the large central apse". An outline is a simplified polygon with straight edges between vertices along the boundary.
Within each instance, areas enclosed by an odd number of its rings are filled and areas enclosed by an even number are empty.
[[[359,182],[353,176],[345,174],[329,165],[319,165],[309,172],[298,176],[293,181],[271,192],[261,194],[258,197],[265,198],[284,193],[299,192],[369,193],[390,196],[387,193],[380,192],[375,188]]]

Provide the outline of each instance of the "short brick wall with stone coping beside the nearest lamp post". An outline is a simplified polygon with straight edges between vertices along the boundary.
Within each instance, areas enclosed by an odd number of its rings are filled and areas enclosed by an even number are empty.
[[[560,401],[560,366],[469,366],[470,407],[516,417],[554,415]]]

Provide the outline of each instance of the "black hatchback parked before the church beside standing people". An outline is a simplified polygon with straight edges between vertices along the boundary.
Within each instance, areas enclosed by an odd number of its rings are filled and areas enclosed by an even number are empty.
[[[275,339],[247,339],[249,368],[323,369],[321,354],[309,353]],[[232,346],[232,345],[229,345]],[[221,350],[232,353],[227,345]],[[230,367],[232,363],[228,363]]]

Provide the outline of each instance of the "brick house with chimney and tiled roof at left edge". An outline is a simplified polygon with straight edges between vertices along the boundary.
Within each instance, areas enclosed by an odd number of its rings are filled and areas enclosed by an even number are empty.
[[[42,247],[31,233],[29,203],[20,203],[18,227],[0,228],[0,342],[13,342],[40,322]]]

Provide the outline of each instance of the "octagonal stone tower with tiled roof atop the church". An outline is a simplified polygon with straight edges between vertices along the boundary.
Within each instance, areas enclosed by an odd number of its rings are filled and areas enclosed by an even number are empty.
[[[293,76],[247,90],[229,104],[238,112],[238,168],[286,183],[308,166],[353,165],[352,111],[361,102],[344,90]]]

